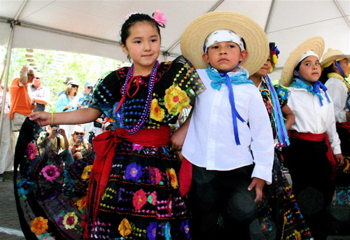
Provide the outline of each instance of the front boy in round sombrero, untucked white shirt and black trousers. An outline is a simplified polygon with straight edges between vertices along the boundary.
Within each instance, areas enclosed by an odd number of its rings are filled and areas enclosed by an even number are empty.
[[[198,17],[181,36],[183,56],[207,85],[183,127],[182,154],[193,174],[193,239],[265,239],[256,202],[272,181],[274,142],[262,97],[248,76],[264,64],[268,46],[256,22],[230,11]]]

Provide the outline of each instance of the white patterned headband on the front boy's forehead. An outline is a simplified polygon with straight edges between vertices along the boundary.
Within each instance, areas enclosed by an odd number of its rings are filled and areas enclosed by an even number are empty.
[[[204,52],[208,51],[208,48],[213,45],[214,43],[221,43],[221,42],[232,42],[237,43],[239,45],[239,48],[241,48],[241,51],[244,49],[243,44],[243,38],[235,33],[235,31],[231,31],[228,29],[219,29],[216,31],[213,31],[204,41]]]

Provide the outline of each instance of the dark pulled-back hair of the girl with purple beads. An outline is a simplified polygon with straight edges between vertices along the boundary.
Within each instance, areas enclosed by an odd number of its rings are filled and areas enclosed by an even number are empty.
[[[153,25],[155,29],[157,29],[158,34],[160,36],[160,28],[155,20],[144,13],[136,13],[131,15],[123,24],[122,29],[120,30],[120,38],[121,42],[125,45],[127,41],[127,37],[130,36],[130,27],[134,26],[137,22],[148,22]]]

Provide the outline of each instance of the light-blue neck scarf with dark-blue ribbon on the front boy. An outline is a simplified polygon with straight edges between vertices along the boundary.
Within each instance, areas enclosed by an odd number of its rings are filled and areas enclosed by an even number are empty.
[[[233,123],[233,132],[235,133],[235,141],[237,145],[241,145],[241,142],[239,141],[239,135],[238,135],[238,127],[237,127],[237,118],[241,122],[245,122],[243,118],[239,115],[237,112],[236,106],[235,106],[235,96],[233,94],[232,90],[232,84],[242,84],[242,83],[251,83],[254,84],[252,80],[250,80],[248,77],[248,73],[243,70],[239,70],[235,72],[232,76],[228,76],[228,73],[219,73],[216,69],[214,69],[212,66],[208,66],[207,74],[211,80],[211,87],[213,87],[215,90],[221,90],[221,85],[225,83],[228,85],[228,92],[229,92],[229,100],[231,105],[231,114],[232,114],[232,123]]]

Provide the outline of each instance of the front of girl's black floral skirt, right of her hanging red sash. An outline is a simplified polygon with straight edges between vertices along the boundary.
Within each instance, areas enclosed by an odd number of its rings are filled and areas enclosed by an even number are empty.
[[[169,147],[118,143],[92,239],[190,239]]]

